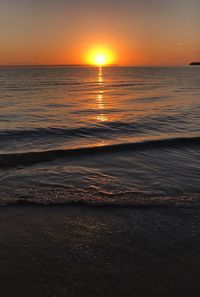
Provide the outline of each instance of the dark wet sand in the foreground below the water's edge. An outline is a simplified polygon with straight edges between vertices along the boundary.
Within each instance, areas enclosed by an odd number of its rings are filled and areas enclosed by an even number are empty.
[[[200,296],[200,210],[0,208],[0,296]]]

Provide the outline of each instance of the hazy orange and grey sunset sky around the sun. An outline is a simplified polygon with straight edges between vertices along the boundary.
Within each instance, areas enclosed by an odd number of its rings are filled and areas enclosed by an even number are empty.
[[[200,60],[199,0],[0,0],[0,65],[85,64],[106,48],[119,65]]]

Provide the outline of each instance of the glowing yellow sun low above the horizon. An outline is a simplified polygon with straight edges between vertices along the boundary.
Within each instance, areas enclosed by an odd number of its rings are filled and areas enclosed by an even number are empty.
[[[107,48],[94,48],[87,54],[87,63],[96,66],[105,66],[113,64],[114,54]]]

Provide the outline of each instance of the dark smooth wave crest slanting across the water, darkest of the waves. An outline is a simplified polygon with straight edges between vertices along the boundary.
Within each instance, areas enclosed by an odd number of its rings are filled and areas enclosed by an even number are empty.
[[[200,146],[200,137],[167,138],[142,142],[119,143],[105,146],[82,147],[75,149],[48,150],[16,154],[0,154],[0,167],[17,167],[49,162],[56,159],[84,157],[96,154],[118,153],[122,151],[151,150],[161,148],[181,148]]]

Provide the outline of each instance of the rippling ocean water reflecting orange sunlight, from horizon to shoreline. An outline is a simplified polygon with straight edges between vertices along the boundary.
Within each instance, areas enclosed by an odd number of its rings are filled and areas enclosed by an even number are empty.
[[[0,68],[0,204],[200,205],[200,67]]]

